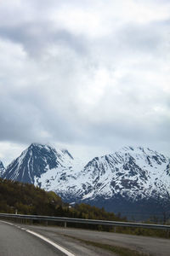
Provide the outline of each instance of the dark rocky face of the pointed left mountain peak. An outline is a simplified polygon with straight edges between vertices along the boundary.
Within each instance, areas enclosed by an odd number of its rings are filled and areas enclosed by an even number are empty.
[[[63,154],[69,153],[67,151]],[[62,152],[59,154],[55,148],[32,143],[7,167],[3,177],[23,183],[35,183],[35,177],[41,177],[42,173],[61,166],[61,162]]]

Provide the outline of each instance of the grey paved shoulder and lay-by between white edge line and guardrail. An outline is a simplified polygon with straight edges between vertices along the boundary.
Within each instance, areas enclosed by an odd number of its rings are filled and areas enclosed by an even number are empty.
[[[59,227],[44,227],[44,226],[35,226],[30,225],[26,226],[30,230],[36,231],[39,234],[44,236],[48,236],[53,241],[59,242],[59,244],[63,247],[66,247],[71,250],[71,252],[76,253],[76,255],[113,255],[107,254],[106,252],[102,252],[101,249],[99,251],[94,250],[96,253],[87,254],[80,253],[74,249],[75,246],[85,247],[80,241],[76,241],[75,239],[71,239],[72,237],[76,237],[77,239],[82,239],[86,241],[97,241],[104,244],[109,244],[112,246],[120,246],[127,247],[130,249],[137,250],[143,253],[150,253],[153,256],[169,256],[170,255],[170,239],[162,239],[156,237],[148,237],[148,236],[131,236],[117,233],[109,233],[109,232],[99,232],[92,230],[81,230],[81,229],[71,229],[71,228],[59,228]],[[69,237],[68,237],[69,236]],[[89,247],[87,246],[87,249]],[[80,254],[79,254],[80,253]]]

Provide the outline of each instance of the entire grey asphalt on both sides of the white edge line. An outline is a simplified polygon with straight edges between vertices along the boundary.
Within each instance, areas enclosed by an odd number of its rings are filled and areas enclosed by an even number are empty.
[[[17,227],[18,226],[18,227]],[[62,253],[58,248],[42,241],[37,236],[28,233],[35,232],[48,238],[55,244],[66,249],[68,253]],[[74,238],[73,238],[74,237]],[[78,239],[85,241],[97,241],[112,246],[128,247],[142,253],[150,253],[153,256],[169,256],[170,240],[147,237],[130,236],[109,232],[91,230],[59,228],[54,226],[38,226],[26,224],[5,224],[0,221],[0,256],[34,256],[34,255],[76,255],[76,256],[113,256],[98,247],[92,247]]]

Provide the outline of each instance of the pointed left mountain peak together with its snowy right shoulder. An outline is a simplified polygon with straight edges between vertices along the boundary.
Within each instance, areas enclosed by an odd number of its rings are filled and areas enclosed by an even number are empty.
[[[48,172],[48,178],[65,179],[71,176],[73,157],[66,149],[55,150],[55,148],[32,143],[29,148],[20,154],[3,174],[4,178],[17,180],[24,183],[33,183],[42,186],[39,178]],[[66,170],[66,172],[65,172]],[[45,180],[48,188],[48,179]]]

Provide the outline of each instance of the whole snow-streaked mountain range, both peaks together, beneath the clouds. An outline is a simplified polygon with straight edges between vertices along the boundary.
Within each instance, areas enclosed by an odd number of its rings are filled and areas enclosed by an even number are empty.
[[[54,190],[67,202],[83,201],[129,218],[162,215],[170,207],[170,159],[150,148],[125,147],[82,166],[66,149],[33,143],[3,177]]]

